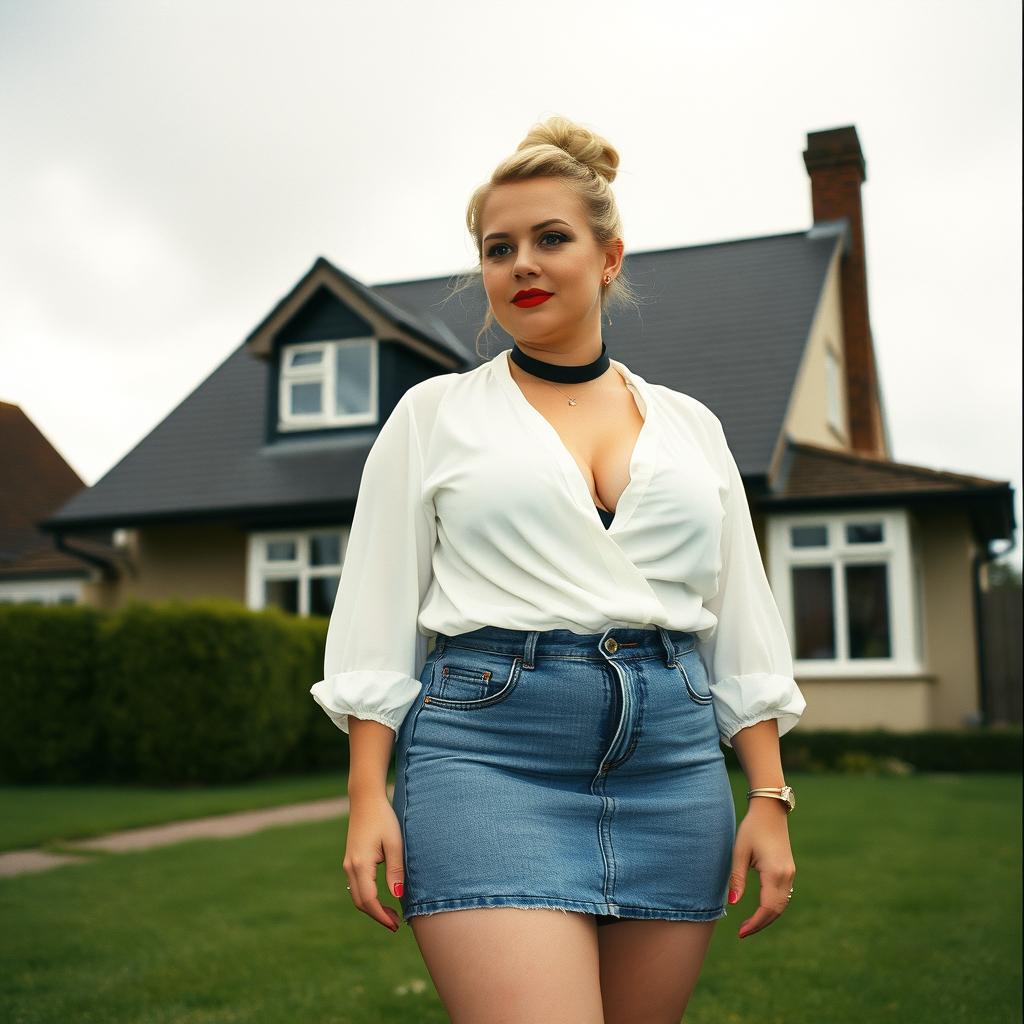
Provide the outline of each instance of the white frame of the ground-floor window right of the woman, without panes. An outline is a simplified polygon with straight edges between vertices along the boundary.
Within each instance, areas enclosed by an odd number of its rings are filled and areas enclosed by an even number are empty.
[[[874,544],[848,544],[846,526],[868,520],[881,521],[885,540]],[[828,545],[823,548],[793,548],[793,526],[826,526]],[[794,671],[799,676],[893,677],[920,675],[919,637],[922,609],[915,581],[910,521],[905,509],[865,508],[849,512],[807,512],[772,515],[767,522],[768,579],[775,595],[790,643],[794,650]],[[846,606],[842,586],[844,567],[858,563],[885,562],[888,565],[889,629],[892,655],[851,658]],[[836,622],[835,658],[797,658],[797,630],[794,620],[791,569],[800,565],[827,565],[833,570],[833,605]]]

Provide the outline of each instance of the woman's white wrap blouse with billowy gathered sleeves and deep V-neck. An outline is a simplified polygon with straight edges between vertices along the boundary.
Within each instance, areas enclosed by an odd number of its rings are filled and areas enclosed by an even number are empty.
[[[696,635],[727,746],[767,719],[786,733],[805,700],[718,417],[611,359],[644,419],[606,528],[509,351],[415,384],[377,435],[313,698],[343,732],[397,733],[437,633],[659,625]]]

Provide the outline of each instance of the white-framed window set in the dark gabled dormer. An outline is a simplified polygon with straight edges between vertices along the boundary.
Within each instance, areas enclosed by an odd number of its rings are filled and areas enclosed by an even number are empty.
[[[281,350],[279,430],[377,422],[377,339],[342,338]]]

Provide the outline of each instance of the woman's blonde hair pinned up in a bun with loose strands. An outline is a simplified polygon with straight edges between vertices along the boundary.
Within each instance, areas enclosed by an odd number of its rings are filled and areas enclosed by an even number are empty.
[[[483,259],[480,218],[484,203],[498,185],[529,178],[559,178],[580,198],[594,238],[599,245],[605,245],[612,239],[623,237],[623,221],[611,191],[611,182],[615,180],[617,171],[617,151],[607,139],[589,128],[558,116],[535,124],[516,146],[515,153],[503,160],[490,178],[470,197],[466,227],[480,262],[475,269],[462,275],[447,298],[480,281]],[[602,287],[601,311],[622,305],[636,305],[636,294],[626,274],[620,270],[611,284]],[[480,338],[494,323],[494,310],[488,303],[483,325],[476,334],[476,354],[481,358],[484,356],[479,349]]]

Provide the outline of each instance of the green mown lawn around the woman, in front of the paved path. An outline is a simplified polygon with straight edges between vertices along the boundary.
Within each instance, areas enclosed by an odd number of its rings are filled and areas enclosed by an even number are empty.
[[[716,929],[687,1024],[1020,1020],[1020,777],[788,778],[793,903],[737,939],[757,904],[752,873]],[[740,810],[744,781],[733,776]],[[331,778],[311,795],[341,792]],[[446,1021],[412,930],[392,935],[350,904],[344,829],[273,828],[0,880],[0,1019]]]

